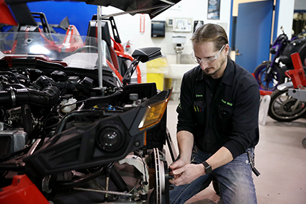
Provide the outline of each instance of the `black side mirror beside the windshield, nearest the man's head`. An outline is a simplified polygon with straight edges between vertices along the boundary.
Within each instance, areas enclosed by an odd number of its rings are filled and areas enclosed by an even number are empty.
[[[146,63],[149,60],[162,57],[161,49],[162,48],[139,48],[134,50],[132,57],[142,63]]]

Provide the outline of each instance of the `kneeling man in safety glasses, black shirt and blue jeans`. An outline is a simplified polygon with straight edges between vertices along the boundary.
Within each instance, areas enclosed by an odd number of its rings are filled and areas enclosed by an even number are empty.
[[[248,156],[259,139],[258,84],[229,57],[221,26],[201,26],[191,42],[199,66],[181,83],[170,202],[185,203],[214,177],[223,203],[257,203]]]

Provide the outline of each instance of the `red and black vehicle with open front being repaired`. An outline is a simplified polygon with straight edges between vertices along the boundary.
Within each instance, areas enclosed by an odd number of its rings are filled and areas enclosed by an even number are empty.
[[[90,2],[153,17],[178,0]],[[39,27],[26,1],[0,9],[1,23],[18,26],[0,32],[0,203],[169,203],[172,90],[137,83],[138,63],[160,48],[123,53],[106,32],[112,16],[80,36]]]

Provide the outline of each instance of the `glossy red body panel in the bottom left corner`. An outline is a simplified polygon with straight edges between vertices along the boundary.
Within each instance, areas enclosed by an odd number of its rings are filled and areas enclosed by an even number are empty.
[[[11,186],[1,188],[0,203],[49,204],[26,175],[14,176]]]

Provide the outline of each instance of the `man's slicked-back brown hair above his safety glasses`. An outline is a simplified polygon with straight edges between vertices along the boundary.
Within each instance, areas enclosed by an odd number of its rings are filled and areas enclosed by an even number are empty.
[[[220,50],[223,45],[228,44],[226,31],[218,24],[206,23],[196,29],[194,36],[191,38],[192,43],[212,42],[216,50]],[[228,52],[229,55],[230,52]]]

